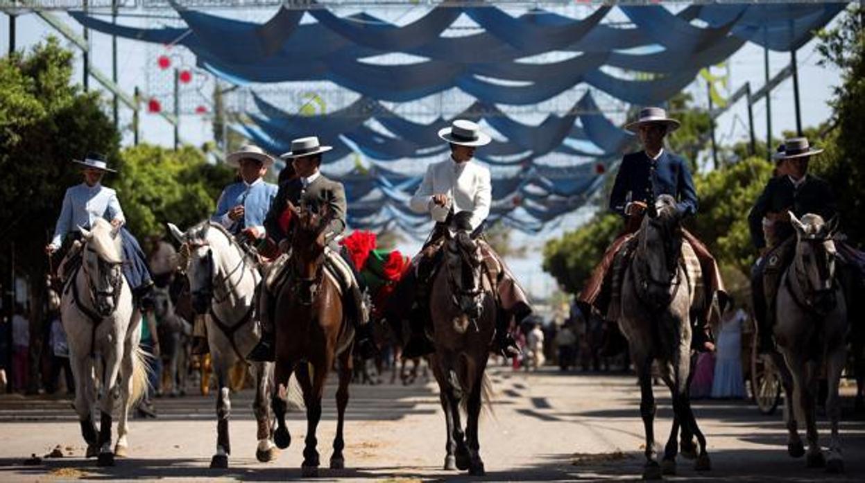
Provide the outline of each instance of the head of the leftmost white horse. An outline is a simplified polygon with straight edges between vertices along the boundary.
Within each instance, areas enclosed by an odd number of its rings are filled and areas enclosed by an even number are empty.
[[[90,286],[96,313],[107,317],[117,309],[123,284],[123,249],[119,231],[105,219],[96,219],[90,231],[79,227],[84,237],[81,267]]]

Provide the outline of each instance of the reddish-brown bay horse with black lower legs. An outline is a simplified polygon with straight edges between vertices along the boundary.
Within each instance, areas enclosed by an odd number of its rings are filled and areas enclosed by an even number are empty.
[[[292,372],[297,371],[298,383],[304,393],[306,405],[306,448],[301,465],[304,477],[318,473],[316,429],[322,415],[322,393],[334,360],[338,359],[339,389],[336,391],[338,422],[333,441],[330,467],[344,467],[343,418],[349,404],[351,381],[351,346],[354,327],[346,320],[340,289],[324,270],[326,242],[324,230],[329,218],[321,213],[294,212],[294,232],[291,239],[292,254],[287,270],[288,281],[279,289],[274,311],[276,329],[275,384],[272,397],[273,412],[277,417],[275,442],[279,448],[288,448],[292,442],[285,427],[288,408],[288,384]]]

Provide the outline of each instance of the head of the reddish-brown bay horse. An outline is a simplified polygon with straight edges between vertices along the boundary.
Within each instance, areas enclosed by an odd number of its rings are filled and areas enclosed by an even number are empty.
[[[292,264],[295,283],[298,283],[298,298],[304,305],[311,305],[321,282],[324,264],[325,232],[332,214],[322,206],[317,212],[309,208],[298,209],[289,202],[296,221],[292,232]]]

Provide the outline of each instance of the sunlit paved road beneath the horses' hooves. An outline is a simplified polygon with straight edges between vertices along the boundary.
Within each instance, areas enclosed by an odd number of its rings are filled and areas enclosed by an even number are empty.
[[[481,426],[481,452],[490,481],[634,480],[643,464],[639,391],[632,376],[490,372],[496,396]],[[336,427],[334,388],[329,386],[318,440],[322,461],[330,457]],[[319,480],[443,480],[458,473],[440,469],[445,423],[434,384],[381,384],[351,388],[346,423],[345,470],[323,470]],[[659,440],[670,429],[669,397],[656,388]],[[292,447],[272,463],[255,461],[251,394],[234,397],[231,469],[208,469],[215,448],[215,402],[205,397],[157,400],[159,419],[134,420],[131,458],[112,468],[83,458],[79,426],[67,400],[0,397],[0,480],[299,480],[305,424],[292,414]],[[780,416],[760,416],[741,401],[695,402],[708,437],[713,469],[696,473],[679,460],[673,480],[829,480],[806,470],[785,452]],[[865,480],[865,422],[845,410],[847,473],[836,480]],[[825,424],[821,425],[823,431]],[[24,467],[30,454],[60,445],[69,454]]]

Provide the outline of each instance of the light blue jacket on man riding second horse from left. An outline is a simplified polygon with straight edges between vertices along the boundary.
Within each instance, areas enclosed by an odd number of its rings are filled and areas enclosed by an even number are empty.
[[[248,185],[245,181],[228,185],[216,203],[216,213],[213,220],[221,223],[230,232],[240,232],[242,228],[258,228],[261,236],[265,233],[265,218],[278,187],[275,184],[262,181],[260,178]],[[238,205],[243,205],[243,225],[228,218],[228,211]]]

